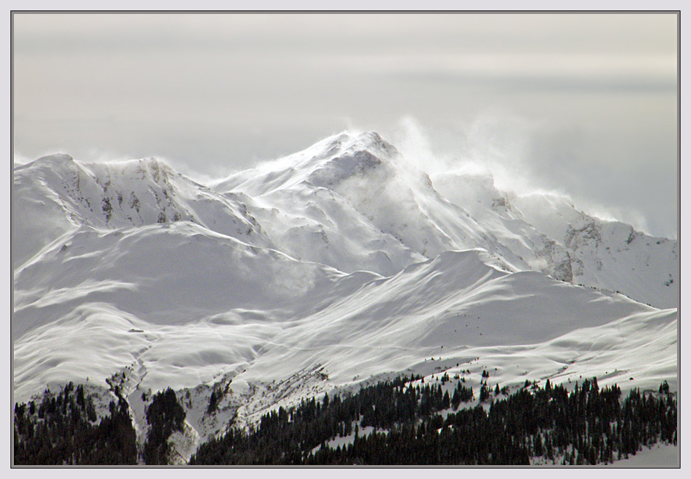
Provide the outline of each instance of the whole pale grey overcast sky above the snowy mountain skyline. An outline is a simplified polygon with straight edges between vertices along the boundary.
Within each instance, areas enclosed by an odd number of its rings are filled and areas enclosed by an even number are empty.
[[[379,131],[676,237],[674,14],[15,14],[15,156],[197,178]]]

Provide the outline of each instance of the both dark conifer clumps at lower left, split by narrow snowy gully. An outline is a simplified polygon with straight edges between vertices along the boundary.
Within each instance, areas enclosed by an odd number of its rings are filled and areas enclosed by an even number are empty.
[[[46,391],[34,401],[15,404],[14,461],[16,465],[138,464],[136,432],[129,404],[115,387],[117,404],[96,424],[96,408],[84,387],[68,383],[52,396]],[[168,464],[168,439],[182,431],[186,413],[168,388],[152,397],[146,420],[150,426],[141,458],[145,464]]]

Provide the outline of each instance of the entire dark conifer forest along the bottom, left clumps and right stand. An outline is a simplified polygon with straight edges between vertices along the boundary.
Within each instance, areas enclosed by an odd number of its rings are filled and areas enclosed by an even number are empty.
[[[189,464],[603,464],[636,454],[644,446],[677,441],[676,398],[667,383],[657,392],[585,380],[568,392],[526,381],[509,394],[484,382],[481,404],[458,381],[425,383],[400,377],[356,393],[303,399],[263,415],[249,429],[231,427],[200,445]],[[147,409],[150,432],[137,452],[124,398],[96,425],[83,390],[67,385],[36,407],[15,406],[15,464],[166,464],[168,436],[181,430],[184,410],[168,389]],[[81,391],[81,392],[80,392]],[[93,405],[91,405],[93,409]],[[370,434],[363,434],[368,428]],[[329,441],[350,436],[331,447]]]

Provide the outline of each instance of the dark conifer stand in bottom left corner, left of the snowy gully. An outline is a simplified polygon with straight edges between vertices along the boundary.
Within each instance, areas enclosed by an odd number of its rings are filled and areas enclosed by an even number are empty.
[[[16,465],[137,464],[136,434],[127,401],[117,392],[109,415],[96,424],[92,398],[68,383],[41,404],[15,404]]]

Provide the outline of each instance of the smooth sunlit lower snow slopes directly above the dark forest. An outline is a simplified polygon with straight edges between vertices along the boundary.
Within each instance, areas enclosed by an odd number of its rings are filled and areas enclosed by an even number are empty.
[[[290,319],[242,309],[175,325],[140,320],[103,302],[82,304],[17,341],[15,394],[30,395],[61,378],[105,381],[114,366],[136,376],[134,396],[227,377],[233,415],[251,422],[277,402],[396,371],[428,376],[470,368],[478,387],[486,368],[496,368],[493,380],[502,386],[598,376],[601,384],[625,389],[655,388],[662,380],[676,387],[676,310],[537,272],[508,274],[482,256],[447,252],[387,279],[340,277],[332,287],[340,300],[326,304],[329,288],[314,288],[317,307]],[[296,374],[300,381],[286,384]]]

